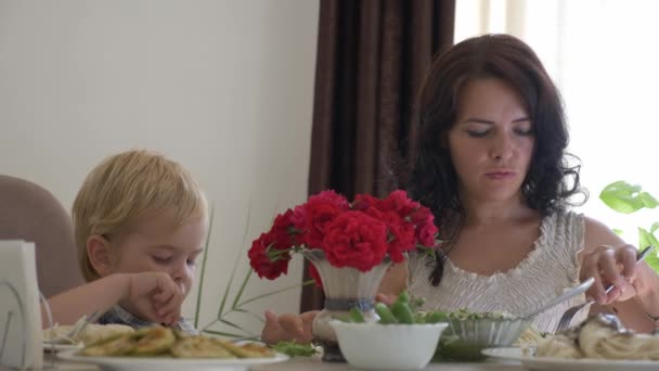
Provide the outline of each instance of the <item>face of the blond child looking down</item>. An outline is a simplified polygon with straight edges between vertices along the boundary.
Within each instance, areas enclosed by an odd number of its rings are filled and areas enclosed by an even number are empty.
[[[113,271],[138,273],[160,271],[168,273],[188,296],[202,253],[206,226],[202,218],[192,218],[177,228],[168,213],[142,218],[132,230],[111,238]]]

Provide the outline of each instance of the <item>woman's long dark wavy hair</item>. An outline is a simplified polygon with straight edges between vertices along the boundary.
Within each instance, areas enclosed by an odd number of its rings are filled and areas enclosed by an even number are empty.
[[[431,209],[445,241],[429,278],[432,285],[441,281],[445,256],[465,220],[448,132],[457,117],[461,89],[471,79],[492,77],[517,90],[533,123],[537,140],[521,186],[528,206],[546,216],[573,205],[569,199],[574,194],[587,199],[579,186],[579,165],[567,161],[569,136],[560,95],[533,50],[509,35],[484,35],[453,46],[435,60],[422,86],[408,181],[410,195]]]

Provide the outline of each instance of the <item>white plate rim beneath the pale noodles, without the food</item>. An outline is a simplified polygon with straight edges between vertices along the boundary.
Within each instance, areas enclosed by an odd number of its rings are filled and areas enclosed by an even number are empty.
[[[524,356],[520,348],[489,348],[482,354],[488,357],[520,361],[529,370],[563,371],[656,371],[659,361],[648,360],[610,360],[610,359],[565,359],[552,357]]]

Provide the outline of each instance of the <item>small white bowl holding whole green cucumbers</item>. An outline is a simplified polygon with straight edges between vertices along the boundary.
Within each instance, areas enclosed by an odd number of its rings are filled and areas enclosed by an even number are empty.
[[[379,324],[331,321],[350,366],[360,369],[415,370],[430,362],[448,323]]]

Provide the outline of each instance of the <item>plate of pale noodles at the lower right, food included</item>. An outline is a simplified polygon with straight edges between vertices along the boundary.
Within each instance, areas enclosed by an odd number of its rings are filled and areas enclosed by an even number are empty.
[[[591,317],[578,329],[548,335],[537,347],[483,349],[531,370],[658,370],[659,335],[637,334],[609,315]]]

